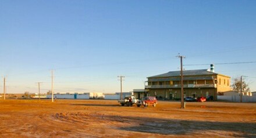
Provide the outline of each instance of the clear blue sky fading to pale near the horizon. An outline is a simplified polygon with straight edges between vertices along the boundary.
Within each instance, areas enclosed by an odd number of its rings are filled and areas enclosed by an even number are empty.
[[[120,92],[184,64],[256,61],[256,1],[0,1],[0,93]],[[185,70],[207,66],[184,66]],[[215,65],[247,75],[256,63]],[[254,77],[254,78],[253,78]]]

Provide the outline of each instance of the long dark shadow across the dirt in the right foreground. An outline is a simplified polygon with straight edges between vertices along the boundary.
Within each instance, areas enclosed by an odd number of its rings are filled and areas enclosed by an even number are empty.
[[[130,121],[138,122],[137,126],[122,127],[121,130],[134,132],[158,133],[161,135],[189,135],[191,133],[209,132],[212,137],[228,132],[234,137],[256,137],[256,123],[252,122],[212,122],[212,121],[189,121],[179,119],[159,119],[125,117]],[[230,118],[231,119],[231,118]],[[215,135],[215,133],[219,135]]]

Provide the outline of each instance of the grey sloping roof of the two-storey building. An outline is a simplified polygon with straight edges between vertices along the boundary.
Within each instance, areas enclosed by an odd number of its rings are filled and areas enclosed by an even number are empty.
[[[184,70],[183,75],[194,76],[194,75],[218,75],[218,74],[205,69],[205,70]],[[170,71],[165,74],[155,75],[148,78],[179,77],[179,76],[180,76],[180,71]]]

